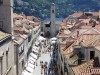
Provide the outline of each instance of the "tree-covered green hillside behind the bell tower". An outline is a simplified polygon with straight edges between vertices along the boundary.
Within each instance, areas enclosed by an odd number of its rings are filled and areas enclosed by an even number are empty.
[[[78,11],[100,10],[100,0],[15,0],[14,12],[24,12],[45,19],[50,17],[50,3],[56,4],[56,16],[64,18]]]

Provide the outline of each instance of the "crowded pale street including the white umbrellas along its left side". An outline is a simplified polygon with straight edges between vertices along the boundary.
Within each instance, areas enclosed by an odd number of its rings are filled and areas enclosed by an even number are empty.
[[[55,42],[52,42],[50,39],[40,36],[32,46],[32,52],[29,55],[29,62],[27,63],[27,66],[31,63],[31,65],[34,65],[34,68],[31,66],[30,71],[26,66],[22,75],[26,75],[26,72],[30,75],[57,75],[56,50],[56,40]],[[38,56],[35,60],[35,57],[31,54],[36,54],[36,52],[38,53]]]

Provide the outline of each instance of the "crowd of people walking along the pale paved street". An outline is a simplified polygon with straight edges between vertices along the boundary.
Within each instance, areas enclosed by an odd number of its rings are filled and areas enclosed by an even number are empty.
[[[41,41],[39,44],[41,54],[50,54],[50,62],[40,60],[40,67],[41,67],[41,75],[56,75],[57,72],[57,60],[56,60],[56,50],[57,46],[55,44],[51,44],[50,40],[46,39]],[[36,65],[38,65],[36,63]]]

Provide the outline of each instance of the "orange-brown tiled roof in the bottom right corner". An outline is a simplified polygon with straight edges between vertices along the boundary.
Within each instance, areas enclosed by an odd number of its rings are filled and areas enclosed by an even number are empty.
[[[72,67],[75,75],[99,75],[100,67],[93,67],[93,60],[83,63],[79,66]]]

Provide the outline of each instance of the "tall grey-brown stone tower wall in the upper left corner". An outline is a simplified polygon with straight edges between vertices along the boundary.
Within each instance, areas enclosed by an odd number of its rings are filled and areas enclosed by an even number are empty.
[[[12,34],[13,0],[0,0],[0,30]]]

